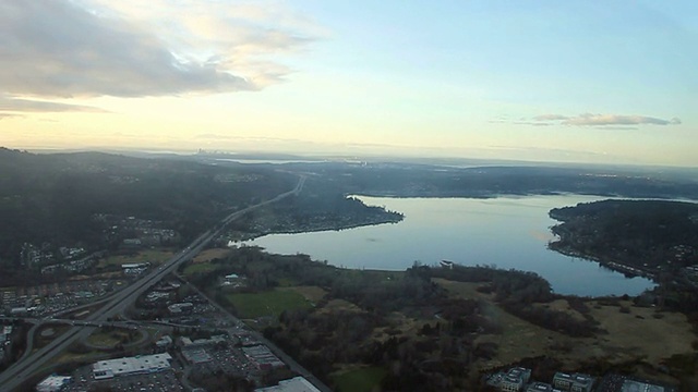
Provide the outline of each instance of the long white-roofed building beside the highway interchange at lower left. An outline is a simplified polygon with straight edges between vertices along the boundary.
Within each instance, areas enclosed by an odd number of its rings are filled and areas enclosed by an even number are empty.
[[[145,375],[169,369],[172,357],[167,354],[143,355],[93,364],[92,372],[95,380],[106,380],[119,376]]]

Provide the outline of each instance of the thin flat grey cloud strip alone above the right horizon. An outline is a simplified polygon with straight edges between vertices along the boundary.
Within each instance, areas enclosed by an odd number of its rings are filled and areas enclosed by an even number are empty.
[[[634,125],[677,125],[682,121],[677,118],[670,120],[648,117],[648,115],[624,115],[624,114],[594,114],[582,113],[576,117],[563,114],[542,114],[533,118],[531,122],[521,122],[528,125],[574,125],[574,126],[599,126],[604,128],[631,128]]]

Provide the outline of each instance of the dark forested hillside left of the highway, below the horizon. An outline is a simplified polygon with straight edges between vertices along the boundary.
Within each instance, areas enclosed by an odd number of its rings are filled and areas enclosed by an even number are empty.
[[[17,269],[26,243],[53,250],[112,246],[98,216],[163,222],[185,241],[231,208],[289,191],[297,180],[262,168],[0,149],[3,278]]]

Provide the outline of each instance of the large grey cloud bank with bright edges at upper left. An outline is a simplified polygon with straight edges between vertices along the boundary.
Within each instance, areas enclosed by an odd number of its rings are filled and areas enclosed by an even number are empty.
[[[275,54],[312,41],[300,23],[253,5],[231,15],[225,5],[3,0],[0,89],[38,97],[257,90],[290,72]]]

